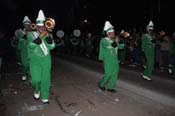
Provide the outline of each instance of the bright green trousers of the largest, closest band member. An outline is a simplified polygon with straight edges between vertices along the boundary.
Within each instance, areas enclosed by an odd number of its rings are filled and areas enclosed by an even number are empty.
[[[32,58],[30,60],[30,72],[32,86],[36,93],[41,93],[41,99],[48,99],[50,89],[51,58]]]

